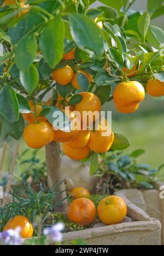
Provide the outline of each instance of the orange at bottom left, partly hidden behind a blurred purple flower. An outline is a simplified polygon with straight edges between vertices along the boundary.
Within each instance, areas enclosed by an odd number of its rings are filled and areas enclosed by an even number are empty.
[[[17,226],[21,227],[22,238],[30,238],[33,236],[32,223],[25,216],[15,216],[13,219],[10,219],[9,222],[4,226],[3,232],[9,229],[16,229]]]

